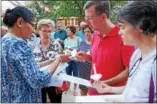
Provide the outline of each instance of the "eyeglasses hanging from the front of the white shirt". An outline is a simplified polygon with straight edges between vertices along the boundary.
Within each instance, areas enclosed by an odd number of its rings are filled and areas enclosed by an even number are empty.
[[[135,63],[134,65],[132,66],[132,68],[130,68],[130,71],[129,71],[129,77],[131,77],[138,69],[139,65],[140,65],[140,62],[142,61],[142,57],[140,57]]]

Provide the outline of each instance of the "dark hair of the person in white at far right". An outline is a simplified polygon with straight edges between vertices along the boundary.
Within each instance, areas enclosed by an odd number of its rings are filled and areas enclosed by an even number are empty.
[[[153,0],[133,1],[119,10],[117,21],[139,26],[144,34],[157,32],[157,7]]]

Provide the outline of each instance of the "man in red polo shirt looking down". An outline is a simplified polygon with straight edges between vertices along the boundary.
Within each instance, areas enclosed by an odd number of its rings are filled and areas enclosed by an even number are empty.
[[[102,74],[99,84],[122,86],[128,78],[134,47],[123,44],[118,34],[119,27],[109,19],[109,7],[109,1],[87,1],[84,5],[85,19],[96,32],[93,35],[92,56],[82,53],[78,59],[90,60],[96,65],[97,73]],[[89,95],[100,95],[92,88],[88,92]]]

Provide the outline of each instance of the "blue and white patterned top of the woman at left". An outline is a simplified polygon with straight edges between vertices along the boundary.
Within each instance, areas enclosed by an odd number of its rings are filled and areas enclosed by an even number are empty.
[[[41,88],[50,82],[50,78],[49,72],[39,71],[32,50],[25,40],[11,33],[2,38],[2,103],[42,102]]]

